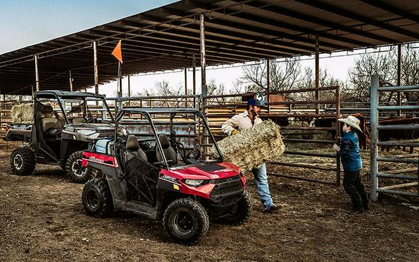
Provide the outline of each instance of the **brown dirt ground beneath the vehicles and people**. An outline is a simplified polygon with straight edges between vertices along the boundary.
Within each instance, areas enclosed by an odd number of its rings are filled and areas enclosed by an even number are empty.
[[[418,199],[380,195],[354,215],[342,186],[270,177],[280,210],[268,215],[249,179],[251,219],[242,226],[211,223],[203,241],[183,246],[165,237],[161,221],[126,212],[89,217],[83,186],[60,168],[11,175],[10,152],[18,145],[0,141],[0,261],[418,261]]]

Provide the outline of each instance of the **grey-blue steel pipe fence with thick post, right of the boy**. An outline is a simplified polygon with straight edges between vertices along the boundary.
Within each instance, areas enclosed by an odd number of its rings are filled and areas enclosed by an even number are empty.
[[[378,104],[379,94],[382,91],[419,91],[419,86],[405,86],[405,87],[379,87],[378,76],[371,76],[371,171],[370,171],[370,186],[371,186],[371,200],[378,199],[378,193],[390,193],[396,195],[407,195],[419,197],[419,155],[405,155],[404,157],[382,157],[378,155],[378,146],[419,146],[419,140],[398,140],[398,141],[379,141],[378,132],[391,132],[391,131],[418,131],[419,124],[391,124],[382,125],[378,124],[378,116],[380,111],[394,111],[394,110],[419,110],[419,105],[395,105],[395,106],[381,106]],[[382,172],[378,170],[378,162],[394,162],[394,163],[407,163],[418,164],[416,168],[402,168],[393,171]],[[416,173],[416,174],[415,174]],[[378,177],[386,182],[403,181],[402,184],[391,184],[389,186],[380,186],[378,184]],[[413,181],[408,182],[407,181]],[[414,190],[409,190],[412,187]],[[407,190],[400,190],[405,188]]]

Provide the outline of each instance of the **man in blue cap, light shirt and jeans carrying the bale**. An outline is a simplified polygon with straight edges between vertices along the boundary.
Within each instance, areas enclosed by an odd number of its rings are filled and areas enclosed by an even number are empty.
[[[260,107],[262,106],[263,104],[259,100],[250,99],[247,102],[246,111],[233,116],[223,123],[221,126],[223,132],[227,133],[227,135],[236,135],[239,131],[250,129],[256,124],[262,123],[262,120],[258,117],[260,114]],[[263,212],[278,210],[278,206],[272,201],[271,193],[269,192],[265,163],[256,168],[252,168],[252,173],[254,175],[260,201],[264,206]]]

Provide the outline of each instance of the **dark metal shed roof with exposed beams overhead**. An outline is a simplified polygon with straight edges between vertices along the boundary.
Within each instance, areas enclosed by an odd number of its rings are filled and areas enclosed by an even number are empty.
[[[123,39],[123,75],[192,67],[200,62],[199,14],[205,14],[207,65],[224,65],[419,41],[417,0],[183,0],[68,36],[0,55],[1,94],[31,94],[34,54],[41,89],[94,85],[116,79],[111,55]]]

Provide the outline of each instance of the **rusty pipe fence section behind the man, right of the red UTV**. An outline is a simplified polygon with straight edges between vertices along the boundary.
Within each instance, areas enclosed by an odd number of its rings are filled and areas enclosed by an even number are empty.
[[[280,100],[280,99],[270,99],[275,98],[276,95],[287,95],[292,96],[292,94],[302,94],[302,93],[314,93],[318,91],[329,91],[333,94],[333,99],[325,100]],[[251,96],[256,94],[250,94]],[[298,168],[307,168],[309,170],[320,170],[320,171],[331,171],[336,174],[334,181],[325,180],[325,178],[316,178],[316,177],[303,177],[300,175],[288,175],[281,174],[276,172],[268,172],[269,175],[279,176],[279,177],[288,177],[292,179],[301,179],[309,182],[319,182],[323,184],[335,184],[340,185],[340,159],[337,153],[311,153],[304,150],[305,144],[328,144],[331,149],[331,145],[336,142],[336,140],[319,140],[313,139],[313,133],[320,131],[320,133],[335,131],[336,134],[339,134],[339,127],[336,124],[334,127],[312,127],[308,124],[292,124],[292,122],[302,122],[304,120],[312,120],[314,118],[333,118],[336,122],[337,118],[340,116],[340,98],[339,98],[339,87],[320,87],[318,89],[307,88],[307,89],[296,89],[288,91],[276,91],[268,92],[266,96],[269,97],[267,100],[269,102],[265,103],[267,108],[263,109],[261,112],[261,118],[269,118],[274,120],[277,124],[281,126],[284,131],[302,131],[298,133],[301,138],[293,138],[292,133],[285,135],[283,141],[287,148],[287,144],[300,144],[302,148],[300,150],[286,150],[285,155],[299,155],[299,156],[311,156],[311,157],[325,157],[327,159],[335,160],[334,167],[325,166],[321,164],[306,164],[306,163],[295,163],[287,161],[276,161],[270,162],[267,164],[272,164],[274,166],[291,166]],[[204,107],[204,111],[207,111],[206,116],[210,127],[214,133],[214,137],[218,140],[221,140],[225,137],[225,134],[221,131],[221,125],[227,118],[231,118],[237,113],[242,113],[245,111],[246,102],[242,98],[249,97],[249,94],[231,94],[225,96],[207,96],[207,105]],[[276,100],[276,102],[270,102]],[[205,104],[204,104],[205,105]],[[335,105],[336,111],[333,113],[326,113],[323,110],[318,111],[319,105]],[[317,112],[318,113],[317,113]],[[283,121],[285,120],[285,122]],[[310,135],[311,134],[311,135]],[[211,144],[205,146],[212,146]],[[307,172],[309,173],[309,172]]]

